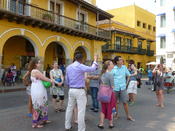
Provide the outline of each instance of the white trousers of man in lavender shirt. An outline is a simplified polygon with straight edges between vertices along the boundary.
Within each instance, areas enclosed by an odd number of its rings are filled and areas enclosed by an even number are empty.
[[[71,128],[72,114],[75,105],[78,107],[78,131],[85,131],[85,113],[87,97],[84,89],[69,89],[68,106],[66,109],[65,128]]]

